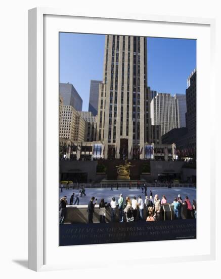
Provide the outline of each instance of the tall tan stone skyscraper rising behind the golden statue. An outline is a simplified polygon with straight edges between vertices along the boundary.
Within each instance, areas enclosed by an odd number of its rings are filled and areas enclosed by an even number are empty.
[[[106,35],[97,125],[105,158],[143,158],[150,139],[149,97],[146,38]]]

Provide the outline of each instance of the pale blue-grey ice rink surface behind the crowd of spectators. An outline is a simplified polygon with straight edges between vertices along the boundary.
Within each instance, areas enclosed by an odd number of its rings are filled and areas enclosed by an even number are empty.
[[[191,204],[193,202],[193,199],[196,200],[196,189],[195,188],[165,188],[165,187],[154,187],[154,188],[147,188],[147,195],[150,195],[150,190],[152,190],[153,198],[155,194],[159,195],[159,198],[161,199],[163,195],[166,196],[167,202],[173,202],[174,198],[177,197],[179,194],[185,199],[186,196],[189,197]],[[70,201],[70,196],[72,193],[79,193],[79,190],[76,189],[63,189],[63,192],[61,193],[61,190],[59,189],[59,197],[63,197],[64,195],[67,196],[68,204]],[[139,195],[145,199],[145,193],[142,193],[142,189],[137,188],[120,188],[116,190],[116,187],[113,188],[113,191],[111,191],[111,188],[85,188],[85,194],[86,196],[79,197],[79,204],[88,204],[91,197],[94,196],[98,199],[98,203],[101,201],[102,198],[104,198],[105,202],[110,202],[112,197],[115,197],[116,200],[118,200],[118,197],[120,194],[123,194],[123,197],[125,199],[126,196],[129,196],[130,198],[136,196],[138,198]],[[75,200],[74,200],[75,201]]]

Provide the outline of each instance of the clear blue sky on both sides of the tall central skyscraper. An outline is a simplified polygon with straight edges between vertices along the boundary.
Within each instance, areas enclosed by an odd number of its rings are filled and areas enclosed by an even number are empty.
[[[104,35],[60,33],[60,82],[72,83],[88,110],[90,82],[102,80]],[[148,86],[158,92],[185,94],[196,68],[196,40],[147,39]]]

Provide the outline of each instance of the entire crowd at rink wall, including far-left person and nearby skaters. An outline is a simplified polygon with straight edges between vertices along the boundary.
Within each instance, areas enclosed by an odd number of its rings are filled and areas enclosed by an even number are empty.
[[[138,185],[138,187],[140,187],[140,185]],[[139,195],[138,198],[136,196],[134,196],[133,198],[126,196],[124,199],[123,195],[120,194],[117,200],[115,199],[115,197],[112,197],[109,202],[105,202],[104,198],[102,198],[100,203],[98,203],[97,199],[93,196],[90,199],[89,204],[87,205],[88,223],[93,223],[93,216],[96,204],[99,204],[100,223],[106,223],[106,210],[108,207],[110,208],[111,222],[159,221],[163,204],[168,203],[166,196],[163,195],[160,199],[159,196],[156,194],[153,198],[151,190],[149,196],[147,196],[146,187],[142,189],[142,193],[144,193],[144,190],[146,194],[144,200],[142,199],[141,195]],[[79,192],[72,193],[69,205],[78,205],[79,198],[82,196],[86,196],[85,188],[83,186],[81,187],[81,190],[79,190]],[[64,223],[66,205],[68,205],[68,200],[67,196],[64,196],[60,199],[60,224]],[[182,219],[183,205],[186,206],[186,218],[196,218],[196,200],[193,200],[191,203],[188,196],[186,196],[183,200],[181,195],[179,194],[177,197],[174,198],[172,205],[174,219]],[[144,209],[146,209],[147,218],[144,217]],[[118,220],[116,220],[117,211]]]

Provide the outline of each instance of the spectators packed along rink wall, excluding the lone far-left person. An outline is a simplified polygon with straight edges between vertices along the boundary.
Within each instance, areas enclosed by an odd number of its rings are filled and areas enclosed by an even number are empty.
[[[154,199],[152,195],[150,195],[149,197],[146,196],[144,201],[141,196],[139,196],[138,199],[136,196],[134,196],[132,199],[130,199],[130,197],[127,196],[124,202],[124,198],[122,194],[119,195],[117,201],[115,197],[112,197],[110,202],[105,202],[104,199],[102,198],[99,203],[100,223],[106,222],[105,217],[106,217],[107,207],[110,207],[111,222],[116,221],[117,208],[119,212],[118,222],[145,221],[144,219],[145,207],[148,213],[146,221],[147,222],[159,221],[162,205],[165,203],[167,203],[165,195],[162,196],[162,199],[159,199],[159,196],[157,194],[155,195]],[[93,214],[94,214],[94,208],[96,204],[97,204],[97,199],[95,199],[95,197],[92,197],[87,206],[89,223],[93,223]],[[173,204],[175,219],[182,219],[182,205],[186,205],[187,219],[196,218],[196,200],[193,200],[193,205],[192,205],[188,196],[186,196],[185,199],[183,200],[181,195],[179,194],[178,197],[174,198],[172,204]]]

